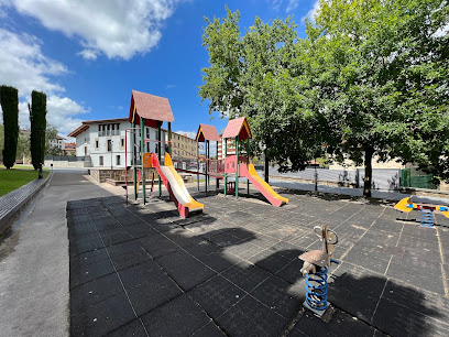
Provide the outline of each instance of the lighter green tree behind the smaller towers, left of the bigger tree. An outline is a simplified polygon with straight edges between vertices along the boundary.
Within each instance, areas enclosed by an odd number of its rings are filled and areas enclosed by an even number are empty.
[[[287,18],[271,24],[255,18],[241,35],[240,13],[227,8],[225,19],[206,19],[202,45],[209,53],[199,96],[209,112],[249,119],[253,150],[264,152],[281,170],[304,168],[321,151],[317,115],[302,93],[302,44],[296,25]],[[307,135],[307,137],[306,137]],[[291,163],[291,165],[289,165]]]

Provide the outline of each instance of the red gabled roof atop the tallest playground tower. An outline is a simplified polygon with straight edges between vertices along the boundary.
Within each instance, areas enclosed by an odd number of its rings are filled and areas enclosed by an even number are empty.
[[[175,120],[167,98],[132,90],[129,121],[134,119],[135,124],[140,124],[140,117],[144,119],[146,127],[153,128],[164,121]]]

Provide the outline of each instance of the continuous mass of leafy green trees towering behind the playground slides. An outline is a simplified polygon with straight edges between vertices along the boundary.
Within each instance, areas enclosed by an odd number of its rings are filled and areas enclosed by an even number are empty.
[[[305,40],[289,18],[255,18],[242,35],[227,11],[206,19],[199,96],[210,113],[248,117],[255,154],[284,171],[349,154],[366,197],[374,155],[449,178],[447,0],[321,0]]]

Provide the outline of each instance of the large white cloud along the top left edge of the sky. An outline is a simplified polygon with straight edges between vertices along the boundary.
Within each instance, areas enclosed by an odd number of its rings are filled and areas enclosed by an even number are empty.
[[[180,1],[186,0],[10,0],[3,6],[10,3],[50,30],[80,37],[79,55],[87,59],[100,53],[130,59],[157,45],[164,22]]]

